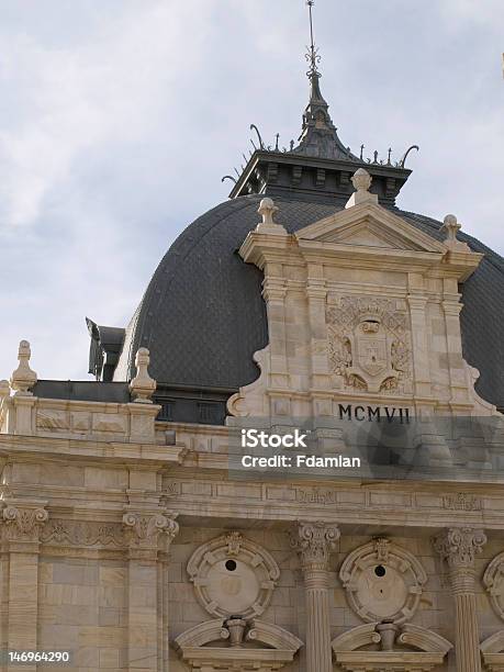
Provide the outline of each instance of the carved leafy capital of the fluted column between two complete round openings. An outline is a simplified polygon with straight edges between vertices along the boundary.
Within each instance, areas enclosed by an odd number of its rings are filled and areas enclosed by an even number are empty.
[[[300,555],[303,570],[328,569],[329,556],[339,536],[339,529],[333,523],[298,523],[290,537],[292,548]]]

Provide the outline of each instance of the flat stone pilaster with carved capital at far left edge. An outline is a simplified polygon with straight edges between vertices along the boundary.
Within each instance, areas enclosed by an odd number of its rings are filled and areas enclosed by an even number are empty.
[[[9,551],[8,650],[36,650],[38,621],[38,553],[40,534],[48,519],[46,502],[8,501],[2,511],[3,540]],[[36,670],[36,664],[23,670]],[[19,663],[5,670],[19,670]]]

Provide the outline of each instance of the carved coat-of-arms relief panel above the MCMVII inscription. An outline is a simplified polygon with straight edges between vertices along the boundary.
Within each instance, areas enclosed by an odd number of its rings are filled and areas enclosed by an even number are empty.
[[[339,296],[326,309],[332,370],[346,390],[412,392],[412,346],[400,299]]]

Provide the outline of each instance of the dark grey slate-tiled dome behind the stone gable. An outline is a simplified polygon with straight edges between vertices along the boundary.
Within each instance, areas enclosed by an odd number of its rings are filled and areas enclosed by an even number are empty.
[[[134,354],[150,350],[150,372],[160,391],[188,388],[232,393],[257,378],[253,355],[268,343],[262,273],[236,250],[260,217],[262,195],[239,197],[209,211],[177,238],[163,258],[126,329],[115,380],[134,374]],[[343,208],[276,199],[277,221],[298,231]],[[391,210],[437,239],[440,222]],[[504,260],[471,236],[459,234],[483,253],[480,267],[462,285],[464,357],[481,371],[478,392],[504,407]]]

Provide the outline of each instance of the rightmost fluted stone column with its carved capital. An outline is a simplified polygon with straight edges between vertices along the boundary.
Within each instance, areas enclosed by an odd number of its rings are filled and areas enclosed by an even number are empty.
[[[436,550],[448,563],[455,600],[457,672],[481,672],[474,559],[485,542],[483,530],[471,527],[451,527],[435,539]]]

